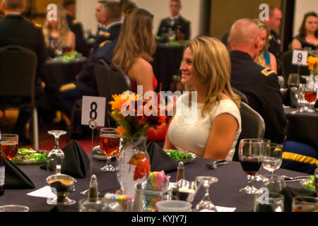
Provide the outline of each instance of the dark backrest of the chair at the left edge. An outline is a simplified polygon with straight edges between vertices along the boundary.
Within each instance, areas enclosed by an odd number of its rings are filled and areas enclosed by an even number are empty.
[[[0,48],[0,97],[30,97],[34,105],[37,56],[17,45]]]

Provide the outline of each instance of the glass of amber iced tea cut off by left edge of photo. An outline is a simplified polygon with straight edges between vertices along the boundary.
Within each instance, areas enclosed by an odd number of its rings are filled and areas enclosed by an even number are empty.
[[[1,150],[8,160],[13,160],[18,154],[18,134],[2,134],[1,136]]]

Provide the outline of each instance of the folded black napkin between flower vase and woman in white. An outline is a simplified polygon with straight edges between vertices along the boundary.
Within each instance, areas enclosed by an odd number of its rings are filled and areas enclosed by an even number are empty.
[[[148,155],[151,161],[151,171],[165,171],[165,174],[176,171],[178,167],[177,161],[167,155],[158,143],[150,142],[147,145]]]

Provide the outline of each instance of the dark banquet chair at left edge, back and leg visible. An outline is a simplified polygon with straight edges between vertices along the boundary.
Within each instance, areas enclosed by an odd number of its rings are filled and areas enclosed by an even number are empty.
[[[37,108],[35,106],[35,74],[37,56],[17,45],[0,48],[0,109],[33,111],[33,144],[39,146]]]

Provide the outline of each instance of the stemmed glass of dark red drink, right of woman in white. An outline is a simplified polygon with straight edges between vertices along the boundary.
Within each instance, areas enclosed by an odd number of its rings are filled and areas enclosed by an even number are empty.
[[[247,173],[249,183],[245,188],[240,189],[245,194],[259,194],[259,189],[253,185],[255,174],[259,171],[263,157],[261,155],[262,144],[261,139],[242,139],[239,147],[239,158],[242,169]]]

